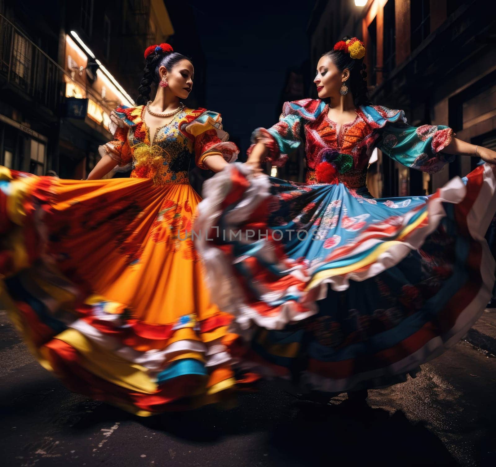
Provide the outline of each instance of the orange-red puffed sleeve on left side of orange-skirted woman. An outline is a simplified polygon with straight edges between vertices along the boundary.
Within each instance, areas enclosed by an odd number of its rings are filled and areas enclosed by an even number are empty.
[[[101,157],[105,154],[109,155],[120,167],[127,166],[132,162],[127,132],[134,124],[127,118],[129,117],[127,115],[129,109],[132,108],[119,106],[110,113],[109,131],[114,136],[114,139],[98,147]]]

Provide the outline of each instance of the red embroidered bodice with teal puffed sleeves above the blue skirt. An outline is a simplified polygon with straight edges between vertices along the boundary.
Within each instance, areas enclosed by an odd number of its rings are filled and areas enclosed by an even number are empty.
[[[382,106],[361,106],[355,112],[352,122],[339,126],[328,117],[328,106],[318,99],[286,102],[279,122],[269,129],[256,129],[252,141],[265,143],[267,160],[275,166],[282,166],[289,153],[305,144],[307,183],[319,183],[317,166],[331,160],[340,181],[350,188],[365,185],[375,147],[407,167],[430,173],[450,160],[440,153],[450,142],[450,128],[411,127],[402,110]]]

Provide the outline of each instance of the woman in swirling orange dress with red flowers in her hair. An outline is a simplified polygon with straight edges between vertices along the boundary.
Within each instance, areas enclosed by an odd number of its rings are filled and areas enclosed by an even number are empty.
[[[239,150],[218,113],[180,102],[189,59],[161,44],[145,60],[142,105],[112,112],[114,140],[88,181],[0,167],[3,307],[69,389],[138,415],[223,400],[254,379],[231,369],[237,335],[191,239],[190,160],[219,171]],[[116,164],[132,165],[131,178],[99,180]]]

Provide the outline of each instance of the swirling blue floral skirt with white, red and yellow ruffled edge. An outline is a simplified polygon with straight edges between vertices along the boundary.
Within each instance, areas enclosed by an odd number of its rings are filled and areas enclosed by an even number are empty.
[[[208,180],[196,247],[243,336],[240,365],[338,393],[404,381],[459,341],[495,282],[484,239],[495,172],[392,199],[253,177],[239,163]]]

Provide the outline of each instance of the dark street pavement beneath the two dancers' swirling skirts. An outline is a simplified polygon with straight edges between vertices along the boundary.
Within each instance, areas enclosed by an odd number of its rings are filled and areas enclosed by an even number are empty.
[[[368,406],[271,383],[238,407],[150,418],[66,390],[0,312],[3,466],[495,466],[496,358],[460,342]]]

